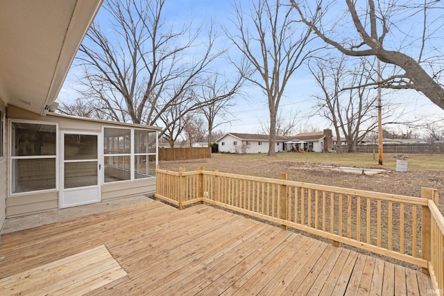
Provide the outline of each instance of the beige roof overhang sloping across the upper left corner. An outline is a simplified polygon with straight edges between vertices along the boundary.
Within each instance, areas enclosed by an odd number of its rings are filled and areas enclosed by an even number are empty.
[[[103,0],[0,1],[0,99],[46,114]]]

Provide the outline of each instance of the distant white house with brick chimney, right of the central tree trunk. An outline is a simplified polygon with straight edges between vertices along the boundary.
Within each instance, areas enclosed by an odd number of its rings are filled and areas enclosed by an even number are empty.
[[[324,152],[332,150],[332,130],[305,132],[291,137],[285,143],[287,151]]]

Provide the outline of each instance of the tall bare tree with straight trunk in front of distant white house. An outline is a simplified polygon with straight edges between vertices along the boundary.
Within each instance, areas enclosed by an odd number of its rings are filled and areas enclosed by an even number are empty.
[[[291,75],[308,58],[310,28],[295,28],[292,9],[280,0],[252,1],[247,24],[240,2],[234,7],[232,23],[237,34],[226,31],[256,75],[245,78],[262,89],[268,99],[270,140],[268,155],[275,156],[275,126],[279,103]],[[246,72],[248,73],[248,72]],[[248,73],[250,74],[250,73]]]

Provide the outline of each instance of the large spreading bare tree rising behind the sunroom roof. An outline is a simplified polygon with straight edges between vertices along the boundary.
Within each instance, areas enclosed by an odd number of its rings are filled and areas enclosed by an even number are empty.
[[[109,119],[156,125],[171,106],[186,106],[167,123],[174,125],[208,103],[187,94],[201,85],[223,53],[214,49],[214,25],[207,26],[206,41],[202,28],[173,26],[163,17],[165,1],[105,1],[112,32],[92,24],[80,46],[83,96],[101,101]]]

